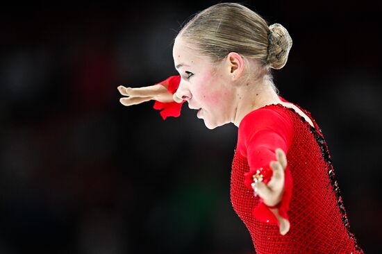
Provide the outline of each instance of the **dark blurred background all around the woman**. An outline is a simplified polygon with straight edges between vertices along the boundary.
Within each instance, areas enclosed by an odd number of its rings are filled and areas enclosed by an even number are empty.
[[[117,92],[176,74],[176,31],[218,2],[2,6],[0,253],[254,253],[229,199],[237,128]],[[351,230],[381,253],[381,3],[241,3],[288,28],[276,86],[321,126]]]

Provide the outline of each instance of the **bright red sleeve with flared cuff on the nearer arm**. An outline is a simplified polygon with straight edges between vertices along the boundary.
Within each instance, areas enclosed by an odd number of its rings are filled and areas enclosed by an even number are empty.
[[[263,174],[263,182],[267,184],[272,178],[269,163],[276,160],[275,150],[283,149],[288,156],[288,150],[293,139],[293,124],[288,115],[278,108],[260,108],[249,113],[239,126],[238,150],[247,158],[249,172],[244,174],[244,184],[251,190],[253,176],[259,169]],[[287,166],[285,169],[285,187],[281,202],[276,205],[281,217],[288,219],[290,198],[292,197],[292,176]],[[261,221],[279,224],[274,214],[260,199],[254,209],[254,217]],[[289,219],[288,219],[289,220]]]

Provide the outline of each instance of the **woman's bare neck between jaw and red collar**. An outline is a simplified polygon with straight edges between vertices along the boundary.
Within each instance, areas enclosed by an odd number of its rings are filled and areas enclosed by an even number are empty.
[[[238,87],[235,101],[233,124],[238,127],[249,112],[265,105],[281,103],[281,99],[272,88],[270,81]]]

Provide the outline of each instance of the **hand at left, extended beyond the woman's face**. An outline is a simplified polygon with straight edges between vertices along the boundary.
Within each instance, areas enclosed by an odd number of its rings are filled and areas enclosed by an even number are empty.
[[[151,100],[160,101],[163,103],[172,101],[180,103],[182,101],[175,95],[171,94],[165,85],[158,84],[138,88],[124,87],[123,85],[119,85],[117,88],[120,94],[127,96],[119,99],[119,102],[125,106],[136,105]]]

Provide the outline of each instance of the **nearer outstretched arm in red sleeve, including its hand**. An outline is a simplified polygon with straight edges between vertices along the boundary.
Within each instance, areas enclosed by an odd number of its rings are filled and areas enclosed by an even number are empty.
[[[286,155],[292,142],[293,126],[288,115],[272,108],[251,112],[239,128],[238,149],[247,158],[250,170],[245,185],[255,190],[260,201],[254,217],[277,223],[281,235],[289,228],[288,210],[292,176]]]

